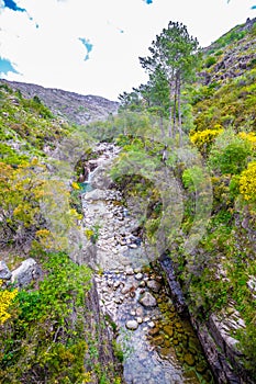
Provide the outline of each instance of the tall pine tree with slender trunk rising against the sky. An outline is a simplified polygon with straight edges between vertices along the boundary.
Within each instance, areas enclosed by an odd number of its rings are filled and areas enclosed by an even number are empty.
[[[181,87],[191,79],[198,65],[198,45],[197,38],[189,35],[185,25],[169,22],[168,29],[164,29],[148,48],[151,56],[140,57],[142,67],[149,72],[151,80],[155,79],[157,83],[160,79],[159,74],[166,78],[169,89],[169,136],[175,137],[178,129],[180,140]]]

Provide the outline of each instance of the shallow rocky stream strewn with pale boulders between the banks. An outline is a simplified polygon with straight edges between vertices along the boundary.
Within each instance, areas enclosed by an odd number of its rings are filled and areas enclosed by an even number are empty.
[[[160,271],[149,268],[136,216],[105,172],[120,149],[102,143],[96,150],[81,195],[84,262],[96,271],[101,309],[116,327],[125,383],[214,383],[189,320],[176,313]]]

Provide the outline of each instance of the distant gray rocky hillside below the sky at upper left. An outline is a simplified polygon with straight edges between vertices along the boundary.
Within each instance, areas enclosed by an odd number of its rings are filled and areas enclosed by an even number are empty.
[[[26,99],[40,98],[55,115],[77,125],[86,125],[88,122],[105,118],[109,114],[116,113],[119,106],[118,102],[101,97],[82,95],[25,82],[1,81],[13,90],[21,91]]]

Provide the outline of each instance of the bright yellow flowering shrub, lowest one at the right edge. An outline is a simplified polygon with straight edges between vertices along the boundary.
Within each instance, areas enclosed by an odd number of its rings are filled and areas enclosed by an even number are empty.
[[[244,200],[256,202],[256,161],[249,162],[247,169],[241,173],[240,193]]]

